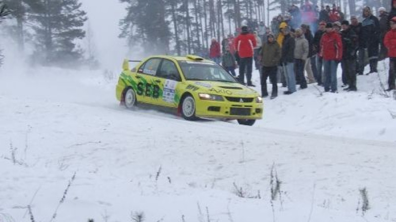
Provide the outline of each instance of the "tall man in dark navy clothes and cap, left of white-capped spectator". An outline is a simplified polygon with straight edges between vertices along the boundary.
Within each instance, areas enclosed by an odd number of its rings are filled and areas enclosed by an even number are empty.
[[[370,7],[363,8],[363,21],[361,29],[361,39],[364,48],[367,48],[368,59],[370,63],[370,73],[377,72],[378,54],[379,54],[379,36],[380,22],[378,18],[372,15]]]

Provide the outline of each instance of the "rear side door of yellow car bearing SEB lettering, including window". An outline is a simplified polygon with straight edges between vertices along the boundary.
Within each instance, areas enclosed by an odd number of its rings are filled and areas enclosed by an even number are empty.
[[[161,61],[162,58],[150,58],[139,67],[136,73],[136,78],[138,79],[136,96],[138,101],[155,104],[154,98],[159,95],[159,87],[154,78]]]

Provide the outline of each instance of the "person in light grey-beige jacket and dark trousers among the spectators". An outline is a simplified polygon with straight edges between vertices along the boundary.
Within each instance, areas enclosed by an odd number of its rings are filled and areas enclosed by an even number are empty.
[[[305,39],[302,29],[297,28],[294,35],[295,35],[295,44],[296,44],[294,49],[294,58],[295,58],[294,65],[296,69],[296,78],[297,78],[297,82],[300,85],[300,89],[306,89],[307,84],[304,76],[304,67],[305,67],[305,61],[308,58],[308,54],[309,54],[309,44],[308,41]]]

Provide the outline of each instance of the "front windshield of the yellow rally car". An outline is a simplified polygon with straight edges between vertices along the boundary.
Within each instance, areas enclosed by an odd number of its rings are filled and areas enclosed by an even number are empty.
[[[186,80],[237,82],[232,75],[216,63],[179,61]]]

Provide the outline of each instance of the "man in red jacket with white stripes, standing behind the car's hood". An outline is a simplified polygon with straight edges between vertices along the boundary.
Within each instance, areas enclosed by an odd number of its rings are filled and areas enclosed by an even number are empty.
[[[253,65],[253,49],[257,44],[254,36],[248,32],[247,26],[242,26],[242,32],[235,38],[234,45],[240,57],[238,81],[241,84],[245,84],[245,70],[247,69],[247,85],[254,87],[251,83],[251,71]]]

